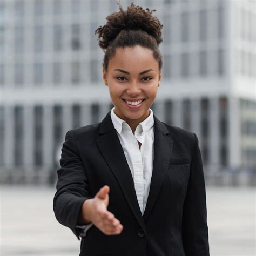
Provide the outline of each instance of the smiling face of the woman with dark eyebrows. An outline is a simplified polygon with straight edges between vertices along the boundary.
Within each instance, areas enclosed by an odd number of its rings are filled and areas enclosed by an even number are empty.
[[[150,49],[142,46],[118,48],[103,70],[114,112],[128,124],[137,125],[150,114],[161,79],[159,64]]]

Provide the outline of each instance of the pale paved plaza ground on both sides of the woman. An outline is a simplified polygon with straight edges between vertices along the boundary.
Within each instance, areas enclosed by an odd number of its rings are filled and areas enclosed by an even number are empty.
[[[79,255],[80,241],[55,219],[54,193],[52,187],[1,187],[1,256]],[[211,256],[254,256],[255,189],[207,187],[206,196]]]

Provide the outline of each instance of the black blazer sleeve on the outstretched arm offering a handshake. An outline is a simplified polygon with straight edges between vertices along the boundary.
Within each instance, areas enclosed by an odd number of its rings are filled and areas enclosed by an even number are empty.
[[[59,223],[71,228],[79,239],[78,216],[84,201],[91,197],[88,197],[87,177],[72,131],[66,133],[57,174],[53,211]]]

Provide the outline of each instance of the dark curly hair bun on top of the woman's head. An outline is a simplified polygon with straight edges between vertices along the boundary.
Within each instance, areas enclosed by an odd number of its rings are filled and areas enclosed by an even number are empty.
[[[143,30],[156,39],[157,45],[163,42],[161,37],[163,25],[157,17],[152,15],[155,9],[146,8],[145,10],[131,3],[124,11],[120,3],[118,5],[119,11],[107,16],[107,23],[95,30],[100,48],[105,50],[122,30]]]

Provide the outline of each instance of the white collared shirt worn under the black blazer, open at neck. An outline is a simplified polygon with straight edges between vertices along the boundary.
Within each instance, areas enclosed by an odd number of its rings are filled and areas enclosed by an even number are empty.
[[[149,196],[150,183],[153,171],[154,160],[154,117],[153,111],[150,109],[150,115],[139,123],[134,134],[130,126],[116,113],[114,107],[111,109],[111,120],[120,144],[123,147],[125,158],[134,182],[134,188],[142,215],[145,211],[147,197]],[[139,149],[140,142],[142,145]],[[93,224],[77,225],[80,228],[80,236],[85,237],[87,230]]]

